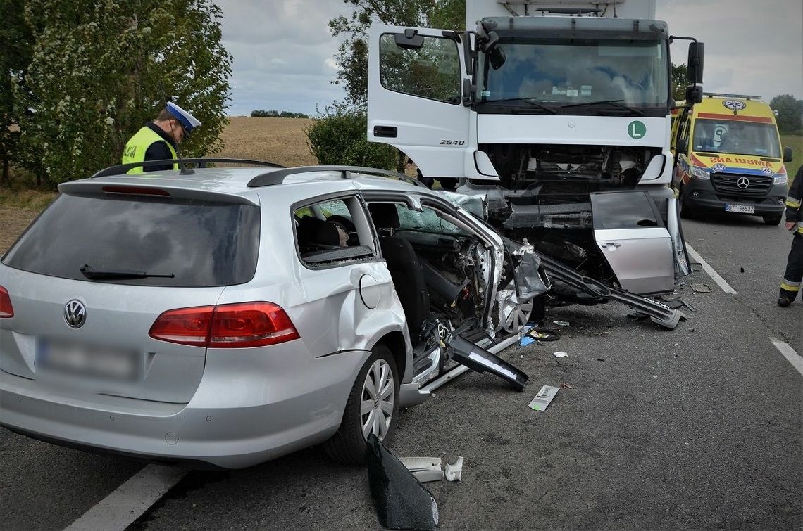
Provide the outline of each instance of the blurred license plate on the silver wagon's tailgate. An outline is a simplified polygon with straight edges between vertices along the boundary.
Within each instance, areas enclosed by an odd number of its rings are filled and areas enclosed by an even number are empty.
[[[35,366],[37,372],[130,382],[140,377],[142,359],[135,352],[39,339]]]

